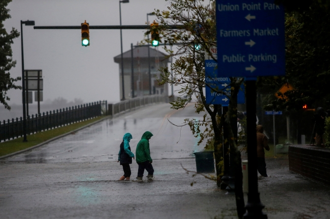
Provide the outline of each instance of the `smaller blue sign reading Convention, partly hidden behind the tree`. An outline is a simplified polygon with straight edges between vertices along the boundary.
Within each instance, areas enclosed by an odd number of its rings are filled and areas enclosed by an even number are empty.
[[[217,49],[211,48],[214,58],[217,57]],[[221,104],[222,106],[228,106],[230,96],[230,79],[229,77],[222,77],[217,71],[217,62],[213,60],[211,56],[205,54],[205,83],[206,83],[206,103],[207,104]],[[219,91],[225,94],[218,93]],[[241,89],[237,96],[237,103],[245,103],[245,90],[244,84],[241,85]]]

